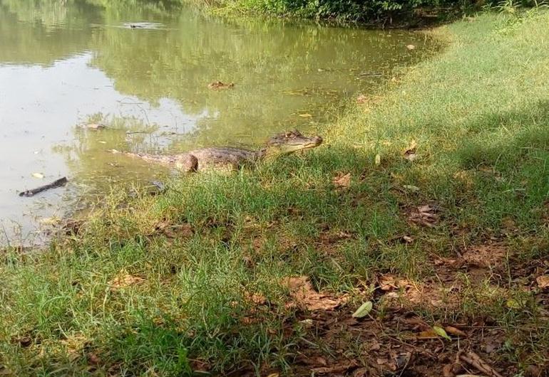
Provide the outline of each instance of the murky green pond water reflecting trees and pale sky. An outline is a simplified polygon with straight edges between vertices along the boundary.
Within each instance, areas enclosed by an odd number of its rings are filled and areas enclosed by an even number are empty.
[[[235,21],[168,3],[0,0],[0,243],[34,242],[112,184],[166,174],[110,149],[253,148],[322,129],[346,97],[433,49],[419,33]],[[217,80],[235,85],[210,89]],[[108,128],[80,127],[91,123]],[[61,176],[65,188],[18,196]]]

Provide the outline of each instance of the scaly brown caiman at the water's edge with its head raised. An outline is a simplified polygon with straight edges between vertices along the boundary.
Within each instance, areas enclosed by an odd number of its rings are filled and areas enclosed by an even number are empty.
[[[311,149],[320,144],[322,144],[322,137],[307,137],[294,129],[291,132],[276,134],[269,139],[264,148],[257,151],[232,147],[210,147],[182,154],[125,153],[125,155],[175,167],[180,171],[192,172],[205,169],[208,166],[229,166],[232,169],[239,169],[241,166],[255,164],[265,158]]]

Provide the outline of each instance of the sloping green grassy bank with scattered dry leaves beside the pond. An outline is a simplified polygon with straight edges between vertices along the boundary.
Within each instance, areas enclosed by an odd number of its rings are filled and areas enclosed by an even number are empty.
[[[0,373],[494,375],[474,352],[545,376],[548,23],[439,28],[445,51],[318,149],[113,194],[44,253],[1,255]]]

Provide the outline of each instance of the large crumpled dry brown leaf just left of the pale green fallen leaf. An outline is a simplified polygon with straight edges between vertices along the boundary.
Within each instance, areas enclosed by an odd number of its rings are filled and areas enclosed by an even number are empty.
[[[288,307],[304,307],[312,312],[316,310],[333,310],[347,301],[347,296],[332,297],[314,290],[309,277],[287,277],[282,283],[289,289],[292,302]]]

